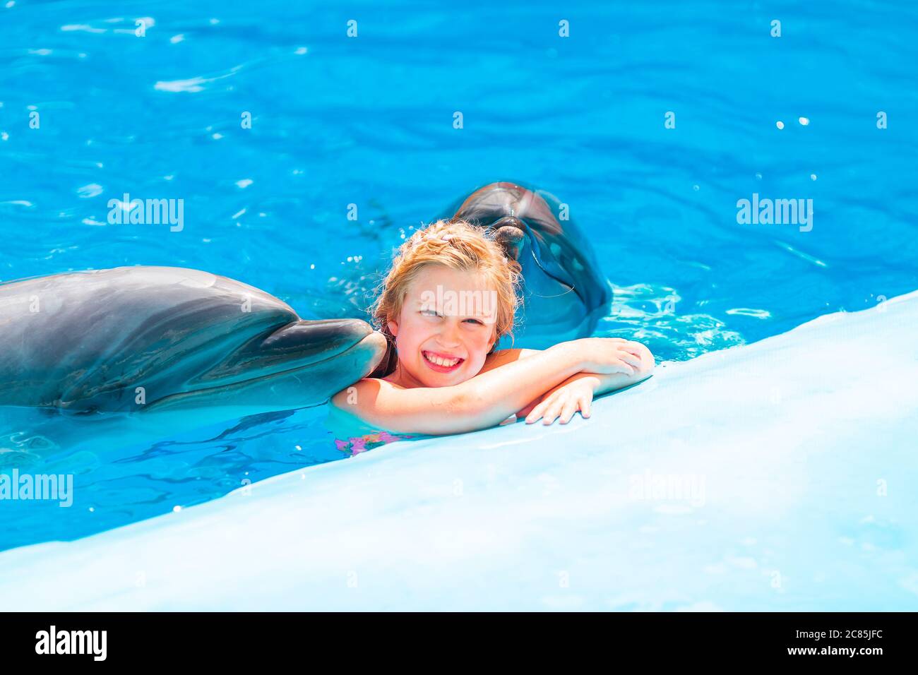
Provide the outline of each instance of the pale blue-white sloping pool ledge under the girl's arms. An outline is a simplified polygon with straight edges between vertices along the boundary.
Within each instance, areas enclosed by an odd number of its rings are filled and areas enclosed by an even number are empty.
[[[0,554],[3,610],[918,610],[918,291]]]

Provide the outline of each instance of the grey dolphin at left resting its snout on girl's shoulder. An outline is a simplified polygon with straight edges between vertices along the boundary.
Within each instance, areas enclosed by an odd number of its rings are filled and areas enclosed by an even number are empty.
[[[365,377],[385,350],[365,321],[302,321],[258,288],[197,270],[118,267],[0,285],[2,406],[303,408]]]

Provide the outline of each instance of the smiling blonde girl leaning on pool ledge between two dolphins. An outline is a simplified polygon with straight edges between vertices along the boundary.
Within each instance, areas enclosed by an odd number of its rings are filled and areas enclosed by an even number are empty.
[[[360,452],[367,440],[404,437],[392,433],[471,432],[514,413],[528,424],[565,424],[577,411],[589,417],[594,396],[650,376],[650,350],[621,338],[496,351],[502,336],[512,339],[520,270],[463,220],[439,220],[402,244],[373,307],[389,353],[330,401],[334,411],[385,431],[339,447]]]

